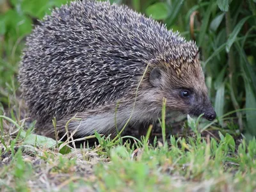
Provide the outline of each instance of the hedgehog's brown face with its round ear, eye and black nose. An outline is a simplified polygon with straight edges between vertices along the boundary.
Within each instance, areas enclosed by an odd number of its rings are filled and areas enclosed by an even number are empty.
[[[150,72],[149,82],[162,98],[166,97],[166,107],[170,110],[195,116],[204,113],[204,118],[212,121],[216,113],[207,95],[202,68],[191,70],[193,72],[186,70],[182,76],[177,76],[173,68],[155,67]]]

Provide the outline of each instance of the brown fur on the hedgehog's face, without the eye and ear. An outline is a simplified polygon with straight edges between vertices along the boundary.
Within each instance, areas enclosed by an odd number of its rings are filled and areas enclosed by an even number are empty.
[[[158,99],[159,104],[162,102],[159,98],[165,97],[167,99],[166,107],[171,110],[196,116],[204,113],[205,118],[213,120],[216,113],[207,95],[204,72],[198,56],[190,63],[185,61],[179,67],[172,64],[162,64],[161,66],[163,67],[157,67],[161,74],[159,79],[152,81],[157,95],[155,98]],[[157,84],[154,84],[156,81]],[[184,90],[191,93],[188,98],[182,97],[181,94]]]

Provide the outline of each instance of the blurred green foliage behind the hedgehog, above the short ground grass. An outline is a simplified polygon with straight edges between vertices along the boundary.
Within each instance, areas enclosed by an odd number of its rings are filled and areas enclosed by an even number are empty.
[[[0,104],[19,95],[17,72],[26,36],[67,0],[0,0]],[[256,136],[256,0],[111,0],[151,15],[200,47],[218,127]],[[14,101],[15,102],[15,101]],[[3,110],[2,110],[3,111]]]

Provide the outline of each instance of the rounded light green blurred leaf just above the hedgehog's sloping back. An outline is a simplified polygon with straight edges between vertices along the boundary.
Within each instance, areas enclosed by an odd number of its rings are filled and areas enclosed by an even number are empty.
[[[151,16],[156,20],[166,19],[168,16],[168,6],[166,3],[155,3],[146,9],[147,16]]]

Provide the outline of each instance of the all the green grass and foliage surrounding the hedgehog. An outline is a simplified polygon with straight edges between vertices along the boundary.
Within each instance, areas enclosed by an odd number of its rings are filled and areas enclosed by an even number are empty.
[[[67,145],[34,134],[19,98],[16,76],[32,18],[64,0],[6,2],[0,1],[1,191],[256,190],[253,0],[125,1],[198,42],[218,120],[188,116],[170,125],[163,108],[160,128],[149,127],[145,137],[111,140],[96,132],[92,147],[72,145],[70,135]]]

